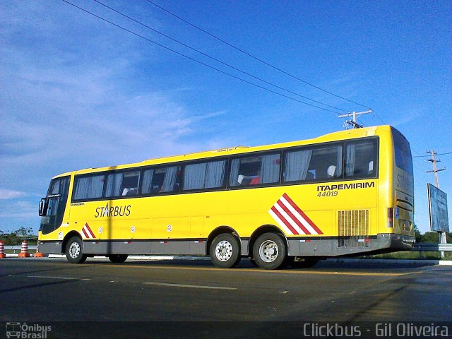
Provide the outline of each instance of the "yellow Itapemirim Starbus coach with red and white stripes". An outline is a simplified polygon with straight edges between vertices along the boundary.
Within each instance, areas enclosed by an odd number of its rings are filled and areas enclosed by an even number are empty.
[[[410,144],[391,126],[60,174],[40,201],[39,249],[112,262],[210,256],[230,268],[410,249]]]

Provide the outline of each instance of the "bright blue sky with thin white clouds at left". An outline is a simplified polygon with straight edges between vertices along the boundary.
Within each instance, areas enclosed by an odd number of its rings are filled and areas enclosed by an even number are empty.
[[[104,1],[292,92],[364,109],[259,64],[145,0]],[[368,105],[408,138],[413,155],[452,152],[450,1],[154,1],[269,64]],[[258,83],[92,0],[71,2]],[[3,231],[37,231],[37,203],[61,172],[343,129],[336,114],[237,81],[60,0],[1,1],[0,39]],[[381,124],[371,114],[361,121]],[[422,232],[429,229],[426,183],[434,182],[424,159],[415,158],[415,221]],[[451,210],[452,155],[440,159]]]

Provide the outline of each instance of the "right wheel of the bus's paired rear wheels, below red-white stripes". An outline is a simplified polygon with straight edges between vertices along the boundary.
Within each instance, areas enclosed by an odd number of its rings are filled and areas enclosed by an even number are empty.
[[[253,246],[253,257],[260,268],[275,270],[287,264],[287,246],[276,233],[264,233]]]

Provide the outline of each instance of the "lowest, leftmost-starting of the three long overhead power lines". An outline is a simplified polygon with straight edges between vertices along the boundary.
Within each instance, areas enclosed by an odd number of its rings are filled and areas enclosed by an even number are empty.
[[[64,1],[66,4],[69,4],[69,5],[73,6],[73,7],[76,7],[76,8],[78,8],[78,9],[80,9],[81,11],[83,11],[83,12],[85,12],[85,13],[88,13],[88,14],[90,14],[91,16],[94,16],[95,18],[98,18],[98,19],[100,19],[100,20],[102,20],[102,21],[105,21],[106,23],[109,23],[110,25],[114,25],[115,27],[120,28],[121,30],[124,30],[124,31],[126,31],[126,32],[129,32],[129,33],[131,33],[131,34],[133,34],[133,35],[135,35],[135,36],[137,36],[137,37],[141,37],[141,39],[144,39],[144,40],[146,40],[146,41],[148,41],[148,42],[151,42],[151,43],[153,43],[153,44],[156,44],[157,46],[162,47],[162,48],[164,48],[164,49],[167,49],[168,51],[173,52],[173,53],[175,53],[175,54],[178,54],[178,55],[180,55],[181,57],[184,57],[184,58],[189,59],[189,60],[191,60],[191,61],[194,61],[194,62],[196,62],[196,63],[198,63],[198,64],[201,64],[201,65],[203,65],[203,66],[206,66],[206,67],[208,67],[209,69],[213,69],[213,70],[218,71],[218,72],[220,72],[220,73],[223,73],[223,74],[225,74],[225,75],[227,75],[227,76],[230,76],[231,78],[237,79],[237,80],[242,81],[242,82],[244,82],[244,83],[247,83],[247,84],[249,84],[249,85],[253,85],[254,87],[261,88],[262,90],[266,90],[266,91],[268,91],[268,92],[270,92],[270,93],[273,93],[273,94],[276,94],[276,95],[280,95],[281,97],[285,97],[285,98],[287,98],[287,99],[290,99],[290,100],[293,100],[293,101],[296,101],[296,102],[300,102],[300,103],[302,103],[302,104],[304,104],[304,105],[308,105],[308,106],[315,107],[315,108],[318,108],[318,109],[323,109],[323,111],[331,112],[331,113],[333,113],[333,114],[339,114],[338,112],[331,111],[331,109],[326,109],[326,108],[323,108],[323,107],[319,107],[319,106],[316,106],[316,105],[312,105],[312,104],[309,104],[309,102],[304,102],[304,101],[302,101],[302,100],[295,99],[294,97],[290,97],[290,96],[288,96],[288,95],[284,95],[284,94],[282,94],[282,93],[275,92],[274,90],[270,90],[269,88],[265,88],[265,87],[263,87],[263,86],[261,86],[261,85],[258,85],[258,84],[256,84],[256,83],[251,83],[251,81],[247,81],[247,80],[245,80],[245,79],[243,79],[243,78],[239,78],[238,76],[234,76],[234,75],[232,75],[232,74],[230,74],[230,73],[227,73],[227,72],[225,72],[225,71],[222,71],[221,69],[217,69],[217,68],[214,67],[214,66],[210,66],[209,64],[206,64],[206,63],[204,63],[204,62],[202,62],[202,61],[199,61],[199,60],[196,60],[196,59],[194,59],[194,58],[192,58],[192,57],[189,57],[189,56],[186,55],[186,54],[183,54],[183,53],[181,53],[181,52],[177,52],[177,51],[175,51],[174,49],[171,49],[171,48],[169,48],[169,47],[164,46],[163,44],[159,44],[158,42],[155,42],[155,41],[153,41],[153,40],[150,40],[150,39],[148,39],[147,37],[143,37],[143,35],[139,35],[138,33],[133,32],[133,31],[127,29],[127,28],[124,28],[124,27],[122,27],[121,25],[118,25],[118,24],[116,24],[116,23],[113,23],[112,21],[109,21],[109,20],[107,20],[107,19],[105,19],[105,18],[102,18],[101,16],[97,16],[96,14],[94,14],[94,13],[92,13],[92,12],[90,12],[90,11],[84,9],[84,8],[81,8],[81,7],[79,7],[79,6],[75,5],[75,4],[72,4],[71,2],[69,2],[69,1],[67,1],[67,0],[61,0],[61,1]]]

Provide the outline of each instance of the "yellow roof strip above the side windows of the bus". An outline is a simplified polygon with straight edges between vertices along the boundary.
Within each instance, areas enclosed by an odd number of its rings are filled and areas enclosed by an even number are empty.
[[[71,174],[87,174],[92,172],[105,172],[112,169],[126,169],[126,168],[133,168],[133,167],[143,167],[146,165],[160,165],[170,162],[181,162],[184,160],[197,160],[197,159],[203,159],[208,157],[220,157],[223,155],[235,155],[235,154],[242,154],[242,153],[250,153],[250,152],[258,152],[263,150],[272,150],[272,149],[278,149],[278,148],[289,148],[294,147],[298,145],[309,145],[312,143],[326,143],[328,141],[338,141],[338,140],[347,140],[352,138],[362,138],[364,136],[374,136],[376,135],[376,131],[390,131],[391,126],[385,125],[385,126],[371,126],[371,127],[365,127],[362,129],[347,129],[344,131],[337,131],[333,133],[324,134],[323,136],[319,136],[316,138],[311,139],[305,139],[301,141],[289,141],[285,143],[275,143],[271,145],[260,145],[260,146],[235,146],[232,148],[220,148],[217,150],[206,150],[202,152],[197,153],[188,153],[188,154],[182,154],[182,155],[173,155],[169,157],[158,157],[148,160],[143,160],[141,162],[133,162],[130,164],[124,164],[124,165],[114,165],[114,166],[107,166],[107,167],[97,167],[97,168],[86,168],[86,169],[80,169],[78,171],[73,172],[66,172],[63,174],[59,174],[53,179],[57,177],[64,177]]]

